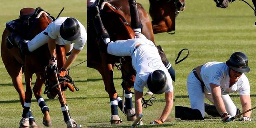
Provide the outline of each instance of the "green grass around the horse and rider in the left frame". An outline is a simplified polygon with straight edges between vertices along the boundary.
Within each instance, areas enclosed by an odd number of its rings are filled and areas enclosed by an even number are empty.
[[[24,7],[42,7],[53,17],[57,17],[62,7],[65,7],[61,17],[75,17],[86,26],[86,2],[85,0],[1,0],[0,2],[0,33],[5,28],[7,21],[19,18],[19,10]],[[73,65],[86,60],[86,46],[77,57]],[[67,103],[71,111],[71,117],[79,124],[86,125],[86,63],[77,66],[70,71],[71,77],[76,81],[79,92],[66,91]],[[33,82],[35,81],[35,77]],[[19,95],[12,85],[11,78],[7,73],[2,59],[0,60],[0,128],[17,128],[21,119],[22,107],[19,102]],[[43,87],[44,90],[44,87]],[[50,116],[52,118],[52,128],[65,128],[62,111],[58,100],[47,100],[43,95],[48,107],[50,108]],[[44,127],[42,120],[43,114],[37,105],[36,98],[32,98],[31,111],[40,128]]]

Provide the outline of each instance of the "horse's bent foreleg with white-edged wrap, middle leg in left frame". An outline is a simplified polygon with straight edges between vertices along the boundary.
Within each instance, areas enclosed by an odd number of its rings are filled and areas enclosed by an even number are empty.
[[[33,92],[36,97],[37,103],[44,114],[43,116],[43,124],[45,126],[51,126],[52,125],[52,120],[49,114],[49,107],[46,105],[45,100],[43,99],[41,93],[42,93],[42,87],[43,87],[44,81],[40,79],[40,74],[36,73],[36,83],[35,86],[33,87]]]

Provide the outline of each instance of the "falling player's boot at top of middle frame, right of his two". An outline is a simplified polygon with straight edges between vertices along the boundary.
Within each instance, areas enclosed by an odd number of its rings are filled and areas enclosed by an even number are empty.
[[[130,5],[130,17],[131,17],[131,27],[132,28],[142,28],[142,24],[140,21],[140,15],[137,9],[136,0],[129,0]]]

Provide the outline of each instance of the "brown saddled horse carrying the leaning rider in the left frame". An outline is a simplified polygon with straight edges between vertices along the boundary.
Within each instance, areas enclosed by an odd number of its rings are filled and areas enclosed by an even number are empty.
[[[28,37],[26,37],[27,40],[32,39],[38,33],[45,30],[48,24],[50,24],[53,21],[52,18],[49,16],[49,14],[47,12],[44,12],[43,10],[37,13],[32,8],[21,9],[21,16],[23,15],[26,15],[26,16],[35,15],[35,17],[38,17],[38,19],[32,22],[34,23],[34,25],[31,28],[32,31],[31,30],[23,31],[23,33],[26,33],[26,34],[31,33]],[[28,27],[31,27],[31,26],[28,26]],[[45,75],[45,69],[46,69],[45,67],[48,65],[48,62],[50,59],[50,52],[48,50],[47,44],[38,48],[34,52],[31,52],[27,55],[23,55],[21,54],[18,47],[7,48],[7,36],[9,36],[10,34],[11,32],[7,30],[7,28],[5,28],[5,31],[2,34],[1,56],[2,56],[2,61],[5,64],[5,68],[9,73],[9,76],[11,76],[12,78],[14,88],[19,93],[19,99],[22,107],[24,108],[23,117],[24,115],[31,116],[31,115],[27,115],[30,112],[29,111],[30,105],[28,104],[31,103],[32,94],[34,93],[38,101],[38,104],[44,114],[43,124],[45,126],[50,126],[51,119],[49,115],[49,108],[46,106],[45,101],[41,96],[41,92],[42,92],[43,83],[45,82],[46,79],[47,81],[55,81],[55,83],[57,82],[53,72],[47,72],[47,75]],[[56,52],[57,52],[58,68],[60,69],[66,62],[65,49],[62,46],[57,46]],[[24,93],[24,88],[22,84],[23,72],[25,75],[25,82],[26,82],[25,93]],[[33,87],[33,93],[32,93],[31,82],[32,82],[33,73],[36,73],[36,82]],[[47,76],[47,78],[45,78],[45,76]],[[63,88],[69,87],[69,89],[73,91],[73,88],[69,83],[64,82],[61,84],[61,86],[62,86],[62,90]],[[55,91],[51,91],[52,93],[50,93],[53,97],[56,96],[59,92],[57,88],[54,88],[54,89]],[[61,98],[59,97],[59,102],[62,104],[62,106],[64,106],[64,104],[66,104],[66,98],[64,99],[64,101],[62,101]],[[29,119],[29,121],[30,123],[34,122],[34,119],[32,120]],[[37,127],[37,126],[35,125],[34,127]]]

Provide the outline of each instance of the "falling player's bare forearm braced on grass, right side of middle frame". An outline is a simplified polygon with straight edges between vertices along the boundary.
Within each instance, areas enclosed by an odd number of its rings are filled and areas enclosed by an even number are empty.
[[[173,92],[166,92],[165,100],[166,100],[166,105],[164,107],[162,115],[159,118],[159,120],[160,121],[162,120],[163,122],[166,121],[167,117],[171,112],[171,109],[173,108]]]

